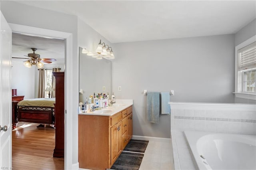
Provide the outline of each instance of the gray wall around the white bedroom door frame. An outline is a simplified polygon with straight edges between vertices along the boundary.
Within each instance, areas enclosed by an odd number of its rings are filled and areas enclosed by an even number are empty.
[[[1,1],[1,11],[7,22],[20,24],[25,26],[32,26],[37,28],[45,28],[49,30],[56,30],[62,32],[72,33],[73,35],[73,68],[74,75],[69,80],[74,82],[73,87],[73,103],[72,114],[73,117],[73,132],[72,132],[72,162],[78,163],[78,18],[76,16],[45,10],[42,8],[31,7],[18,2]]]

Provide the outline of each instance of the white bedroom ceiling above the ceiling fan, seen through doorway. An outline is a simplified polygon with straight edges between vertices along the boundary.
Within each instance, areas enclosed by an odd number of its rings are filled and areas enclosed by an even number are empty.
[[[33,53],[31,48],[37,48],[35,53],[40,54],[40,58],[54,58],[57,61],[64,62],[64,40],[12,33],[12,57],[28,58],[24,55]],[[56,63],[56,61],[53,63]]]

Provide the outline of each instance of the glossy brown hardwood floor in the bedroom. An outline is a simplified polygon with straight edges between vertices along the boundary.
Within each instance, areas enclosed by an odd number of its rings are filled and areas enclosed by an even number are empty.
[[[12,130],[12,167],[15,170],[63,170],[64,158],[53,158],[55,129],[28,123]]]

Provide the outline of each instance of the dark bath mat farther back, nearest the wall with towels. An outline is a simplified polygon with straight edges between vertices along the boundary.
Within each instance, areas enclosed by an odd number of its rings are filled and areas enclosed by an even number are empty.
[[[147,146],[148,146],[148,140],[131,139],[130,142],[124,148],[124,150],[144,153]]]

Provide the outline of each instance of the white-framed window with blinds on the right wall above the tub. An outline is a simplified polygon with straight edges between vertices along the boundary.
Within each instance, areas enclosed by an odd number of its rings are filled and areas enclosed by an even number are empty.
[[[256,36],[236,46],[236,97],[256,100]]]

